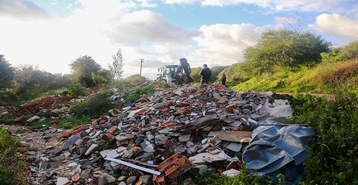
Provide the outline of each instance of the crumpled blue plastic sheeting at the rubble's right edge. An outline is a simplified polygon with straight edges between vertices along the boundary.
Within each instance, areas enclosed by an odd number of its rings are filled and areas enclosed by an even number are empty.
[[[306,147],[313,137],[312,127],[259,126],[252,132],[252,141],[243,153],[243,161],[249,171],[275,181],[276,175],[281,173],[287,184],[295,184],[304,176],[302,162],[308,157]]]

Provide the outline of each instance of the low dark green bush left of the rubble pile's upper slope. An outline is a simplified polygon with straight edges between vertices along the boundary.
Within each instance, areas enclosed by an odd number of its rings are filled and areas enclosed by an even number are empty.
[[[97,93],[89,97],[87,101],[76,104],[70,112],[74,116],[85,115],[91,118],[98,118],[113,108],[113,104],[108,99],[110,96],[111,92],[109,91]]]

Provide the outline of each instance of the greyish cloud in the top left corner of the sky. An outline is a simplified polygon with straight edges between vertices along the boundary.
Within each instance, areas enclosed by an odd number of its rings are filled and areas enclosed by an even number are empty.
[[[0,1],[0,17],[33,21],[49,19],[50,15],[29,0],[2,0]]]

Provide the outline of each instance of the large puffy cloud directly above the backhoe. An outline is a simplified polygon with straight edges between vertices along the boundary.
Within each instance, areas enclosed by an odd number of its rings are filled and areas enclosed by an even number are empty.
[[[112,19],[113,29],[105,34],[114,42],[125,45],[149,43],[185,43],[192,36],[200,34],[198,30],[186,30],[174,25],[163,15],[148,10],[126,14]]]

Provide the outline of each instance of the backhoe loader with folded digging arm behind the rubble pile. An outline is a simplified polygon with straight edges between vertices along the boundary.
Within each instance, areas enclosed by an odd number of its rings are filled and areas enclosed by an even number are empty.
[[[193,82],[191,68],[185,58],[179,60],[179,65],[165,65],[158,69],[160,72],[157,81],[171,85],[181,85],[183,83]]]

